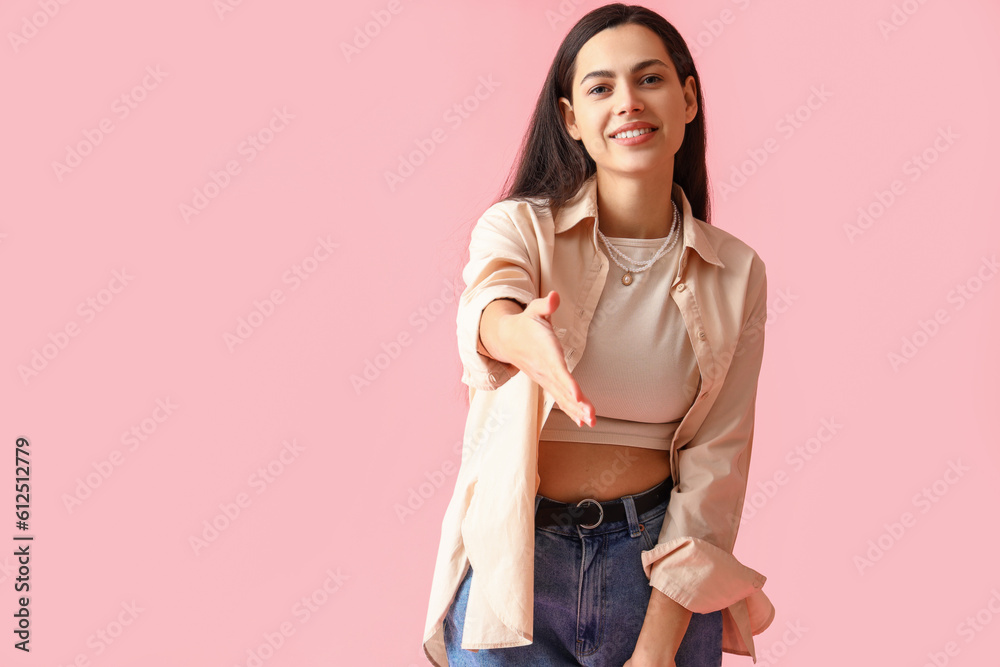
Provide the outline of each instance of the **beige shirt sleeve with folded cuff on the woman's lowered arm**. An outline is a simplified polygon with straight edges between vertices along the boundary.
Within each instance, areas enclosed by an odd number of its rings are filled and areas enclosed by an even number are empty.
[[[694,437],[677,450],[677,484],[653,549],[642,552],[651,586],[700,614],[750,598],[760,602],[766,578],[733,555],[753,443],[757,380],[764,351],[767,278],[756,279],[723,385]],[[763,629],[763,628],[761,628]]]

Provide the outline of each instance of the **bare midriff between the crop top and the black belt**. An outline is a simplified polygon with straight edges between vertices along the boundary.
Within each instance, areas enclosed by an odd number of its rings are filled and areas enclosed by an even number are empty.
[[[670,455],[661,449],[540,440],[538,476],[538,493],[552,500],[614,500],[670,477]]]

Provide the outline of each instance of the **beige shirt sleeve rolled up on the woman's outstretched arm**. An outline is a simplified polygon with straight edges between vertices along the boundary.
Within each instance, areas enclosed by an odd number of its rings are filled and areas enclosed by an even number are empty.
[[[462,382],[475,389],[501,387],[517,372],[486,354],[479,337],[483,310],[491,301],[511,298],[527,306],[538,298],[538,244],[530,224],[519,225],[498,205],[490,207],[472,230],[466,284],[458,301],[458,352]]]

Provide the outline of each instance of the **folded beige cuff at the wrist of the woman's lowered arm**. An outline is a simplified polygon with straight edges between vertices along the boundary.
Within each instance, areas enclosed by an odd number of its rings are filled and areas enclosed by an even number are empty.
[[[698,537],[678,537],[642,552],[651,586],[696,614],[725,609],[754,597],[767,578]]]

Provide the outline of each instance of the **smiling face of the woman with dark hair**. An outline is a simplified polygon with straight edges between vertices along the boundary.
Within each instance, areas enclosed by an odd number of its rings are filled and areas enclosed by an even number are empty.
[[[598,170],[633,175],[672,174],[684,128],[698,113],[694,77],[682,83],[663,41],[634,23],[602,30],[583,45],[572,100],[561,97],[559,105],[566,129],[583,141]],[[634,139],[613,136],[637,121],[653,131]]]

